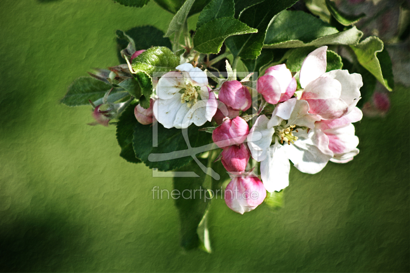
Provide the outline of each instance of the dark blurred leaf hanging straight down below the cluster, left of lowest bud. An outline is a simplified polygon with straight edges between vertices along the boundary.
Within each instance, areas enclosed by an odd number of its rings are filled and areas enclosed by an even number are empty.
[[[202,160],[202,164],[206,165],[206,160]],[[198,177],[173,178],[174,190],[177,190],[181,194],[183,193],[183,197],[180,196],[178,199],[175,199],[181,224],[180,244],[183,248],[190,250],[198,248],[203,244],[198,236],[197,229],[207,212],[210,203],[210,199],[208,198],[210,195],[208,195],[203,187],[203,181],[206,175],[196,162],[192,161],[177,171],[195,172],[198,175]],[[207,194],[208,198],[204,198],[204,194]]]

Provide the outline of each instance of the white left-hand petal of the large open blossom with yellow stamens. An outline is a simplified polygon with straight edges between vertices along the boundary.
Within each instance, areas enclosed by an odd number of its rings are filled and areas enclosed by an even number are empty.
[[[249,131],[248,147],[252,157],[260,162],[267,156],[267,150],[272,142],[275,128],[268,129],[269,119],[265,115],[260,115],[251,130]]]

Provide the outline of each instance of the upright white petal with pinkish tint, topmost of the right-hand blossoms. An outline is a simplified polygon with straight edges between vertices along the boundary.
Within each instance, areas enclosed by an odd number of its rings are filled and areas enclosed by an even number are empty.
[[[302,88],[326,72],[326,51],[326,46],[320,47],[309,53],[304,59],[299,73],[299,82]]]

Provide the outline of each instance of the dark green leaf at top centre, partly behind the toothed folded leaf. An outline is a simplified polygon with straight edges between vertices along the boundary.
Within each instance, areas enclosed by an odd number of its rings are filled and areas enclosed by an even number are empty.
[[[296,0],[275,0],[269,3],[262,2],[245,9],[239,16],[239,20],[251,28],[258,30],[257,33],[229,37],[226,45],[234,58],[256,59],[263,46],[266,30],[272,18],[282,10],[291,7]]]

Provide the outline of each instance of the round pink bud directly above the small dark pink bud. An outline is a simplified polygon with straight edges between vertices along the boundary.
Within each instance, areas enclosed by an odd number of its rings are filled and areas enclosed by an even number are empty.
[[[249,134],[248,123],[241,117],[227,119],[212,133],[219,148],[242,143]]]

